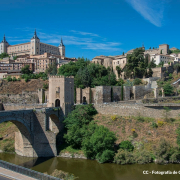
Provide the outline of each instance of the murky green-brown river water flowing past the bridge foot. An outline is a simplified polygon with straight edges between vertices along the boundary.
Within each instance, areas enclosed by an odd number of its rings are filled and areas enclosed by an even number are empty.
[[[0,159],[39,172],[52,173],[54,169],[73,173],[78,180],[179,180],[180,164],[117,165],[99,164],[93,160],[69,158],[27,158],[16,154],[0,153]],[[148,170],[143,174],[143,171]],[[177,172],[177,174],[152,174],[154,171]],[[179,174],[178,174],[179,172]],[[144,172],[145,173],[145,172]]]

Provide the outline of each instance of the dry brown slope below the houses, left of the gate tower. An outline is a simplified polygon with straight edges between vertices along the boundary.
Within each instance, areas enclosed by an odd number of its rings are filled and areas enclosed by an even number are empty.
[[[22,91],[37,91],[43,88],[43,84],[48,84],[48,80],[42,79],[31,79],[25,82],[24,79],[21,81],[0,81],[0,94],[21,94]]]

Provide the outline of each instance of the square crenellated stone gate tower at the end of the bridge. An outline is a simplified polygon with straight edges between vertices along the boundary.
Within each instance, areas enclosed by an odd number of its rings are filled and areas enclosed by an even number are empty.
[[[74,105],[74,77],[49,76],[48,107],[61,107],[64,115]]]

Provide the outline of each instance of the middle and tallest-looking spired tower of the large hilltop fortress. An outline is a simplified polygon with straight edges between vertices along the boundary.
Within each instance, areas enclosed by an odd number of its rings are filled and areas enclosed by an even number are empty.
[[[34,31],[34,36],[31,38],[31,55],[40,54],[40,39],[37,37],[36,29]]]

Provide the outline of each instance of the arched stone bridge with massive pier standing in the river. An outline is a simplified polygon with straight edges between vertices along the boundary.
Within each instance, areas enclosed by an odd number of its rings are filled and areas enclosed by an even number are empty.
[[[11,121],[18,127],[15,152],[27,157],[57,156],[56,142],[62,141],[63,119],[60,107],[0,112],[0,123]]]

